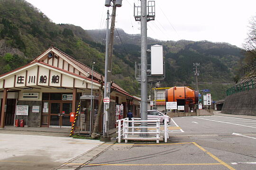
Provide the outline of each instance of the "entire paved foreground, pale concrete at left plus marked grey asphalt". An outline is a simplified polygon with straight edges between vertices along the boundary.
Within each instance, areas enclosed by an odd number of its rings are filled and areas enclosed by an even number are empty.
[[[256,119],[177,117],[168,128],[160,144],[0,130],[0,170],[256,170]]]

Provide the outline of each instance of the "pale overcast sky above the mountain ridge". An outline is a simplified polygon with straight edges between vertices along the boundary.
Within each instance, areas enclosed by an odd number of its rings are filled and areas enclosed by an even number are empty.
[[[85,30],[105,29],[105,0],[27,0],[54,23],[73,24]],[[139,34],[133,4],[123,0],[117,8],[116,27]],[[155,21],[148,22],[147,36],[159,40],[207,40],[242,47],[249,20],[256,15],[256,0],[155,0]]]

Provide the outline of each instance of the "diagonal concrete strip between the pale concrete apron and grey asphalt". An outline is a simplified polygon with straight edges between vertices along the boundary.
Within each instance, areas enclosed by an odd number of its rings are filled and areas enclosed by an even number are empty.
[[[65,162],[61,166],[54,168],[52,170],[76,170],[78,168],[83,167],[85,164],[89,163],[96,157],[98,157],[101,153],[106,151],[109,147],[111,147],[115,142],[107,142],[100,144],[86,153],[82,153],[81,155]]]

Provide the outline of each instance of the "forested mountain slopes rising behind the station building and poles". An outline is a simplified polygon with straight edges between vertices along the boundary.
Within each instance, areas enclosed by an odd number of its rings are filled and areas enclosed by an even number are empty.
[[[26,64],[54,44],[88,66],[95,61],[96,70],[104,75],[104,38],[105,30],[55,24],[24,0],[0,0],[0,62],[3,64],[0,74]],[[134,70],[140,57],[139,39],[139,35],[117,29],[112,64],[114,81],[137,95],[140,85],[134,78]],[[225,97],[224,90],[233,82],[234,69],[243,58],[243,50],[228,43],[165,42],[148,38],[149,49],[155,44],[164,47],[166,77],[161,85],[195,87],[192,68],[194,62],[200,62],[199,88],[210,89],[214,100]]]

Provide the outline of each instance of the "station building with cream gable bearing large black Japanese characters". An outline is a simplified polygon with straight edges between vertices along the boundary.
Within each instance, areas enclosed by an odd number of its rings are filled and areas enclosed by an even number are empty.
[[[102,99],[99,89],[104,76],[93,71],[92,81],[91,78],[91,68],[51,46],[27,65],[0,76],[0,127],[14,125],[16,119],[24,119],[28,127],[70,127],[70,112],[76,112],[81,102],[79,113],[83,119],[80,123],[84,131],[88,131]],[[91,95],[91,89],[92,118],[90,98],[80,98]],[[111,89],[109,121],[110,128],[114,128],[116,105],[122,105],[123,117],[128,110],[138,117],[139,99],[115,83]],[[102,118],[100,121],[101,131]]]

